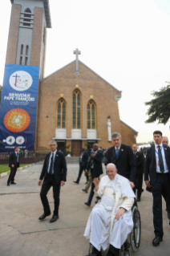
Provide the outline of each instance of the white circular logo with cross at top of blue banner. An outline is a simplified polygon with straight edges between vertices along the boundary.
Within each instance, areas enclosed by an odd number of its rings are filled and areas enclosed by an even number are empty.
[[[26,71],[16,71],[10,75],[10,86],[15,91],[26,91],[33,83],[32,76]]]

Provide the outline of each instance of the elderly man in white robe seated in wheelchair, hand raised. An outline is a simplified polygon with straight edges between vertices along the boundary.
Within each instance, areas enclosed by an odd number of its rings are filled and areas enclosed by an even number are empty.
[[[101,248],[109,250],[107,256],[119,255],[119,249],[132,231],[132,205],[135,194],[127,178],[117,174],[115,165],[107,165],[107,175],[94,179],[95,192],[101,201],[95,205],[87,221],[84,236],[93,246],[91,256],[101,256]]]

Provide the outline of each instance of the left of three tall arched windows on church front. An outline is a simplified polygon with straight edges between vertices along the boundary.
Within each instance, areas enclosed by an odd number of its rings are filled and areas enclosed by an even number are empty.
[[[63,99],[57,105],[57,128],[66,128],[66,102]]]

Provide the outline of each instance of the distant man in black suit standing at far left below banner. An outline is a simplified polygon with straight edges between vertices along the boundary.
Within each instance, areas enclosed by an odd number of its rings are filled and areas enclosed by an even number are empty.
[[[7,181],[7,186],[16,185],[14,182],[14,177],[17,173],[17,169],[19,167],[19,148],[15,147],[14,152],[10,154],[10,161],[9,161],[9,167],[10,167],[10,176]]]

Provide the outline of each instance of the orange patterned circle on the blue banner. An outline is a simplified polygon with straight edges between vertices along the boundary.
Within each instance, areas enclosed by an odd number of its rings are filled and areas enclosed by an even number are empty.
[[[3,123],[10,132],[23,132],[30,125],[30,115],[21,108],[14,108],[6,113]]]

